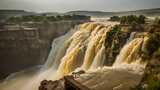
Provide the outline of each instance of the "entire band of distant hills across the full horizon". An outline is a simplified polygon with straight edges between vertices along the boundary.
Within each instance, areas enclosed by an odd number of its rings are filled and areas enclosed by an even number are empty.
[[[146,16],[160,16],[160,8],[154,9],[142,9],[135,11],[121,11],[121,12],[103,12],[103,11],[70,11],[66,13],[57,13],[57,12],[46,12],[46,13],[35,13],[28,12],[24,10],[0,10],[0,17],[10,17],[10,16],[22,16],[22,15],[48,15],[48,16],[56,16],[56,15],[87,15],[93,17],[110,17],[110,16],[123,16],[123,15],[146,15]]]

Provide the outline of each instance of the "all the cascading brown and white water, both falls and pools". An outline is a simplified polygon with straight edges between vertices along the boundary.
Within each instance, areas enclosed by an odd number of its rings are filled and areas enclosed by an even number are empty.
[[[37,90],[40,81],[56,80],[82,69],[87,73],[77,80],[93,90],[125,90],[141,80],[146,63],[138,52],[144,48],[146,38],[133,39],[133,35],[118,55],[112,67],[106,61],[106,33],[112,25],[85,23],[53,41],[52,50],[41,69],[14,74],[0,84],[0,90]],[[71,36],[71,37],[70,37]]]

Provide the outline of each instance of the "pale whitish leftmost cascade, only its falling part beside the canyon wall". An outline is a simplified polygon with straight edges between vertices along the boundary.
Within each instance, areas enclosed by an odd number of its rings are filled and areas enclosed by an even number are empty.
[[[48,56],[48,59],[46,61],[46,63],[44,64],[45,68],[57,68],[59,63],[60,63],[60,59],[64,56],[65,51],[68,47],[68,42],[66,41],[76,30],[78,29],[78,27],[75,27],[75,29],[72,29],[71,31],[69,31],[67,34],[56,38],[53,42],[52,42],[52,49],[50,50],[50,54]]]

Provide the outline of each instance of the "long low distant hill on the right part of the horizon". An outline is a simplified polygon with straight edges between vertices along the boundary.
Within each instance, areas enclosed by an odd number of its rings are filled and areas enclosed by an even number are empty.
[[[154,9],[143,9],[143,10],[135,10],[135,11],[122,11],[122,12],[102,12],[102,11],[70,11],[65,14],[78,14],[78,15],[88,15],[94,17],[107,17],[107,16],[123,16],[123,15],[146,15],[146,16],[160,16],[160,8]]]

